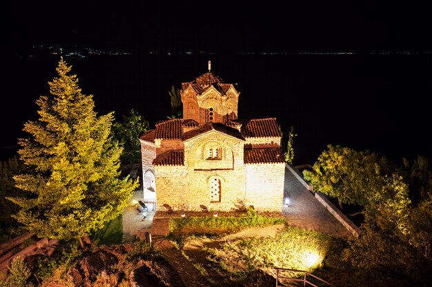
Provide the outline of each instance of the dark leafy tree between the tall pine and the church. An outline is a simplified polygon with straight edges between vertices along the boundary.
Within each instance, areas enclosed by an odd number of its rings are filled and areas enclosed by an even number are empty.
[[[148,127],[148,121],[134,109],[130,110],[129,116],[123,116],[122,123],[117,122],[112,125],[115,138],[123,147],[120,156],[122,162],[130,164],[141,162],[141,145],[138,138]]]

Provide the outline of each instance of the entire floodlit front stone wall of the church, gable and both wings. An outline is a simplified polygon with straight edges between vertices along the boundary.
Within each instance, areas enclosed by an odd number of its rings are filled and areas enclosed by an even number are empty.
[[[206,159],[206,145],[222,147],[221,160]],[[244,142],[218,131],[210,131],[184,142],[184,166],[158,166],[156,194],[163,204],[190,211],[229,211],[239,200],[262,211],[282,211],[285,164],[244,164]],[[220,180],[220,202],[210,202],[210,181]]]

